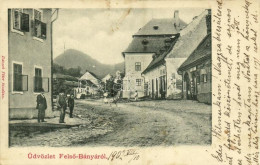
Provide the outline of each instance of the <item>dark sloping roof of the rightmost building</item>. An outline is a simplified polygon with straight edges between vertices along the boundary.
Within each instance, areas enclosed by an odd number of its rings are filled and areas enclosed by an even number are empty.
[[[196,62],[206,58],[211,58],[211,33],[209,33],[192,52],[192,54],[181,64],[178,71],[193,67]]]

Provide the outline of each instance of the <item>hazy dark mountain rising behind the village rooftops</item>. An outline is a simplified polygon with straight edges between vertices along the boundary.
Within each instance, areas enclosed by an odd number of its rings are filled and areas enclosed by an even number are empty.
[[[118,70],[122,73],[124,72],[124,62],[115,65],[102,64],[89,55],[75,49],[66,50],[54,59],[54,63],[63,66],[66,69],[77,68],[79,66],[82,74],[88,70],[96,74],[100,79],[107,74],[115,75]]]

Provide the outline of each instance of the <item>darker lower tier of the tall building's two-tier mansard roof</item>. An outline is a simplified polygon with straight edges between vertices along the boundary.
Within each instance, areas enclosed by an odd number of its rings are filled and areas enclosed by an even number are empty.
[[[170,37],[168,37],[170,38]],[[124,53],[156,53],[164,47],[166,37],[134,37]],[[143,42],[147,42],[146,45]]]

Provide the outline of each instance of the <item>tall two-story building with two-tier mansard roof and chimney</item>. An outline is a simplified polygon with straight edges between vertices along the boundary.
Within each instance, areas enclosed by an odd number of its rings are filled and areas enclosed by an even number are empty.
[[[125,58],[125,77],[123,79],[123,97],[133,97],[135,91],[139,97],[147,95],[147,83],[142,72],[153,59],[169,49],[167,42],[173,42],[186,23],[179,18],[179,11],[172,19],[152,19],[136,34],[128,48],[122,52]]]

